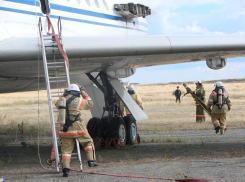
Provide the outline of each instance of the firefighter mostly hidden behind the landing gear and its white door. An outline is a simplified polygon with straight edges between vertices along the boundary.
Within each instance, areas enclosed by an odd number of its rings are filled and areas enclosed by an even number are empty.
[[[143,110],[144,109],[143,102],[142,102],[139,94],[135,93],[133,84],[129,84],[128,93],[134,99],[134,101],[140,106],[140,108]],[[120,101],[120,112],[121,113],[124,113],[124,108],[125,108],[125,106],[124,106],[123,102]],[[125,109],[126,109],[126,115],[131,115],[129,110],[127,108],[125,108]]]

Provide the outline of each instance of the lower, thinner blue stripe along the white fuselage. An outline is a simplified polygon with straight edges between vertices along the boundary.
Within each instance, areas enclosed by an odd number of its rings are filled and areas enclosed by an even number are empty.
[[[43,16],[42,13],[35,13],[35,12],[30,12],[30,11],[24,11],[24,10],[17,10],[17,9],[12,9],[12,8],[5,8],[5,7],[0,7],[0,10],[3,11],[10,11],[10,12],[15,12],[15,13],[21,13],[21,14],[28,14],[28,15],[37,15],[37,16]],[[55,15],[50,15],[50,18],[59,18],[59,16]],[[113,24],[107,24],[107,23],[100,23],[100,22],[94,22],[94,21],[88,21],[88,20],[81,20],[81,19],[76,19],[76,18],[68,18],[68,17],[61,17],[63,20],[69,20],[69,21],[75,21],[75,22],[82,22],[82,23],[89,23],[89,24],[94,24],[94,25],[101,25],[101,26],[108,26],[108,27],[115,27],[115,28],[124,28],[124,29],[129,29],[129,30],[137,30],[140,32],[147,32],[145,30],[141,29],[135,29],[135,28],[130,28],[130,27],[125,27],[125,26],[119,26],[119,25],[113,25]]]

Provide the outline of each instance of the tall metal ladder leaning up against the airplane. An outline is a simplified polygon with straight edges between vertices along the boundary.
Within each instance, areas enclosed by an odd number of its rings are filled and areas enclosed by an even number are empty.
[[[43,66],[44,66],[44,74],[46,80],[47,87],[47,95],[48,95],[48,103],[49,103],[49,114],[50,121],[52,127],[52,136],[53,136],[53,151],[55,154],[55,167],[57,172],[59,172],[60,159],[59,159],[59,150],[58,150],[58,140],[59,137],[59,122],[55,122],[54,113],[59,112],[56,107],[52,104],[52,98],[54,100],[58,100],[60,96],[62,96],[63,92],[59,90],[60,86],[68,87],[70,85],[70,77],[69,77],[69,62],[68,58],[65,54],[65,51],[62,47],[62,26],[61,19],[58,19],[58,35],[55,34],[54,28],[51,24],[50,17],[47,15],[49,28],[52,28],[52,34],[47,33],[47,35],[43,35],[42,21],[41,17],[39,18],[39,35],[41,41],[42,48],[42,57],[43,57]],[[56,62],[56,57],[62,55],[64,57],[64,61]],[[48,58],[53,59],[48,59]],[[52,87],[52,88],[51,88]],[[51,89],[57,88],[57,92],[51,92]],[[55,99],[56,98],[56,99]],[[82,171],[82,160],[80,154],[79,142],[76,140],[77,145],[77,155],[80,164],[80,170]],[[76,155],[72,154],[72,155]]]

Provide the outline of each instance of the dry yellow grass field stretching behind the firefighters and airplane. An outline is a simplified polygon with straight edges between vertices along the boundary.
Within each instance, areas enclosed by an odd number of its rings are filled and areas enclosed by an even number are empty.
[[[138,122],[138,130],[203,130],[212,129],[211,119],[206,117],[206,123],[195,121],[195,102],[190,95],[181,97],[181,103],[175,102],[172,94],[176,86],[180,86],[182,95],[185,88],[181,83],[136,85],[149,119]],[[193,83],[187,84],[192,90]],[[205,83],[206,99],[214,89],[214,82]],[[227,114],[227,127],[245,128],[245,82],[224,82],[232,101],[231,111]],[[39,95],[39,97],[38,97]],[[36,137],[51,134],[47,92],[22,92],[0,94],[0,135],[29,135]],[[83,111],[83,119],[91,118],[89,111]],[[38,127],[39,126],[39,127]]]

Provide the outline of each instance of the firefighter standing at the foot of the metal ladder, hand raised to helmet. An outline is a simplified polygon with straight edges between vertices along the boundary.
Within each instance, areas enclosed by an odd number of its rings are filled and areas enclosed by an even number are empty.
[[[66,98],[66,121],[63,129],[59,132],[61,137],[61,165],[64,177],[68,177],[70,171],[71,153],[74,148],[75,139],[83,146],[88,166],[94,167],[99,164],[95,162],[95,148],[93,139],[90,137],[85,122],[81,119],[81,110],[89,110],[93,101],[86,93],[84,87],[78,84],[71,84],[65,93]],[[56,102],[59,108],[59,100]]]

